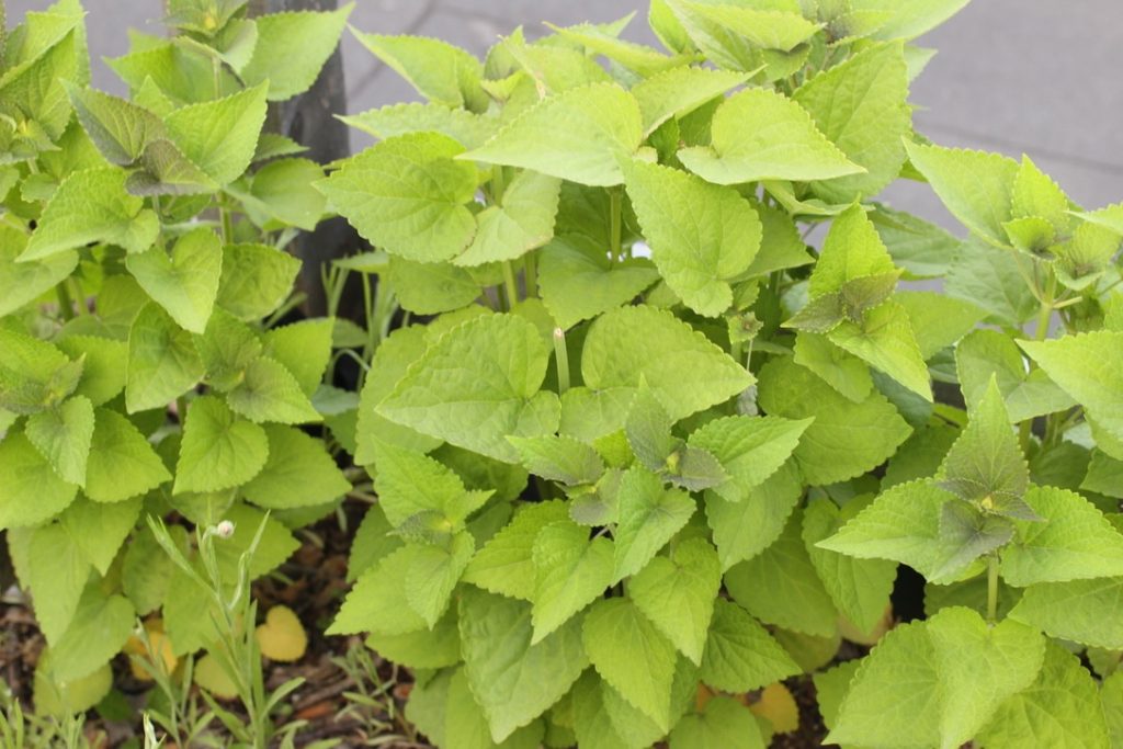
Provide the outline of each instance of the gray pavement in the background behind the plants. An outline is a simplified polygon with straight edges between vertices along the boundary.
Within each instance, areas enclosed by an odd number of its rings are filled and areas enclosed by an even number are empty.
[[[84,0],[95,60],[125,52],[129,27],[158,33],[159,0]],[[8,0],[9,22],[47,0]],[[608,21],[639,11],[626,34],[654,43],[646,0],[357,0],[351,24],[383,34],[444,38],[482,54],[501,35],[541,21]],[[1123,38],[1120,0],[974,0],[921,39],[940,54],[914,84],[915,120],[937,143],[1030,154],[1077,202],[1095,208],[1123,200]],[[344,40],[349,108],[417,99],[349,35]],[[94,65],[95,85],[120,91]],[[359,138],[356,144],[362,143]],[[895,186],[894,204],[950,223],[922,185]]]

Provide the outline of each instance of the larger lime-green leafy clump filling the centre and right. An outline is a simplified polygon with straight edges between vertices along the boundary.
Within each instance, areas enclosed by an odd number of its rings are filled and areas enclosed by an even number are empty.
[[[346,118],[378,141],[318,186],[423,321],[373,347],[329,633],[416,669],[435,743],[761,747],[743,695],[804,673],[843,746],[1119,740],[1123,209],[914,131],[964,4],[356,33],[428,101]]]

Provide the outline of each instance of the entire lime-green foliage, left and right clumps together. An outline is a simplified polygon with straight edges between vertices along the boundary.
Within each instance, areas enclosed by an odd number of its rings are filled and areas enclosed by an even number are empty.
[[[346,117],[376,144],[327,176],[262,128],[347,9],[243,4],[173,2],[111,61],[130,102],[86,86],[76,0],[3,44],[0,528],[40,707],[162,609],[264,746],[231,601],[350,493],[328,633],[410,667],[445,749],[764,747],[802,674],[846,747],[1123,741],[1123,208],[914,131],[913,39],[966,0],[652,0],[665,51],[624,19],[483,62],[356,31],[427,102]],[[877,202],[897,179],[969,238]],[[279,325],[327,212],[374,248],[326,273],[365,330]]]

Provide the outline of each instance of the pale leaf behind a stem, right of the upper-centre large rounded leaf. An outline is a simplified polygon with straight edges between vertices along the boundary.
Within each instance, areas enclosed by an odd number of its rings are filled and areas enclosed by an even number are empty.
[[[476,216],[478,229],[456,265],[483,265],[522,257],[554,236],[562,181],[524,171],[511,180],[499,205]]]

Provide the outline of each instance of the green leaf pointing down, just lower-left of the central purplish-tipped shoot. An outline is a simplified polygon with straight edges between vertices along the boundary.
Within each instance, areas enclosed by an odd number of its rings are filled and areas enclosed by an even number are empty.
[[[531,643],[569,621],[612,584],[612,542],[588,538],[588,529],[563,520],[542,528],[531,549],[535,595]]]

